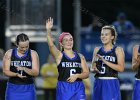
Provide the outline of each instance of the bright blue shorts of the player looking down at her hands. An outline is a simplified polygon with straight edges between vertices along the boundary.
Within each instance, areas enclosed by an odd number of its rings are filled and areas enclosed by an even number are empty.
[[[17,85],[7,82],[5,100],[36,100],[34,84]]]

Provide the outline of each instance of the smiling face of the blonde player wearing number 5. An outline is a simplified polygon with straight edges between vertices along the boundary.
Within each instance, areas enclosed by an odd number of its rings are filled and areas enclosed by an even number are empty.
[[[112,43],[114,36],[111,34],[111,30],[109,29],[102,29],[101,31],[101,41],[103,44]]]

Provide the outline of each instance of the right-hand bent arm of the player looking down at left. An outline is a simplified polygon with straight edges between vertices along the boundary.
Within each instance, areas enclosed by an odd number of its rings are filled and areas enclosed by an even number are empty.
[[[32,57],[32,69],[23,67],[23,70],[31,75],[31,76],[38,76],[39,74],[39,57],[36,51],[31,51],[31,57]]]

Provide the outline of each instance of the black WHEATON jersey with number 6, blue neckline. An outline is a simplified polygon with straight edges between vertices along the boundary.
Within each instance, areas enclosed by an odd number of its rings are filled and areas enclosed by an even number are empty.
[[[76,73],[81,73],[81,59],[79,54],[74,52],[75,57],[69,58],[64,52],[61,59],[60,64],[58,65],[58,80],[59,81],[67,81],[67,79]],[[76,81],[81,81],[81,79],[77,79]]]

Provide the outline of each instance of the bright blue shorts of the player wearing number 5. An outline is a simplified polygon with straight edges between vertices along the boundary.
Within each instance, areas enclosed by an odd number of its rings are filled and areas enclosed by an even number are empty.
[[[92,100],[121,100],[118,79],[95,79]]]

